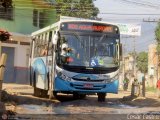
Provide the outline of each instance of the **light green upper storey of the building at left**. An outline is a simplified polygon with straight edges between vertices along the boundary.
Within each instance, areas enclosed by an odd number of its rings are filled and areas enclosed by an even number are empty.
[[[0,27],[9,32],[30,34],[52,24],[56,11],[45,0],[4,0],[11,1],[8,8],[0,6]]]

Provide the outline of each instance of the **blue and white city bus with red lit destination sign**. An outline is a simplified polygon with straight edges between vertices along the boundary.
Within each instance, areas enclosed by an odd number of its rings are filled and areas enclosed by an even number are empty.
[[[35,96],[94,94],[105,101],[107,93],[118,93],[121,44],[116,25],[60,20],[31,37],[30,84]]]

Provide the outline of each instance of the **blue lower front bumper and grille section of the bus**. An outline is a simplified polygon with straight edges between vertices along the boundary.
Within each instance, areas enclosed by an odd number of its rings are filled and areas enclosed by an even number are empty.
[[[84,87],[85,84],[92,84],[92,88]],[[114,80],[110,83],[91,83],[91,82],[69,82],[60,78],[55,79],[55,91],[57,92],[78,92],[78,93],[118,93],[119,81]]]

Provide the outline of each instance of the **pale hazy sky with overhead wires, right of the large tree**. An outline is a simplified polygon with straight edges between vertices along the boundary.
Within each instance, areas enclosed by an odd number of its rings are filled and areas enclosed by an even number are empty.
[[[148,45],[155,43],[154,31],[157,22],[144,22],[160,19],[159,0],[96,0],[95,6],[99,8],[98,17],[103,21],[115,23],[129,23],[141,25],[141,36],[122,36],[125,53],[148,51]],[[134,44],[135,41],[135,44]]]

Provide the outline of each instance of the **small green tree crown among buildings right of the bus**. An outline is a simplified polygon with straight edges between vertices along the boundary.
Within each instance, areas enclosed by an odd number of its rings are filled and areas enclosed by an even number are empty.
[[[148,71],[148,53],[140,52],[136,58],[137,60],[137,68],[142,73],[147,73]]]

